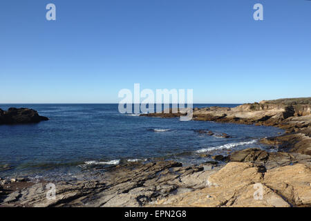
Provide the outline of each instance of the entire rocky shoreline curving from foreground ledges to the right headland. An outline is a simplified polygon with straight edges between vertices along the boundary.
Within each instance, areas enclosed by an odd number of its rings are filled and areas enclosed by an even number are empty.
[[[111,166],[91,181],[55,183],[55,200],[46,198],[44,180],[0,180],[0,206],[311,206],[311,98],[195,108],[194,120],[277,126],[286,132],[261,140],[275,153],[254,146],[193,166],[173,161]]]

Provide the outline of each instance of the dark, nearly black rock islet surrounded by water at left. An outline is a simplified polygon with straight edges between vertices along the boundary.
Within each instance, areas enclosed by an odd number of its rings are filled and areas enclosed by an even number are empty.
[[[29,108],[9,108],[8,111],[0,109],[0,124],[29,124],[48,120],[40,116],[37,111]]]

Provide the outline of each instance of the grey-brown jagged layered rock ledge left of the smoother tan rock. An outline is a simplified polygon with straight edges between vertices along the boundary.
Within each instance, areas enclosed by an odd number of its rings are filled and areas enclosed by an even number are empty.
[[[55,200],[46,198],[47,182],[3,184],[0,206],[144,206],[169,195],[205,187],[207,177],[216,173],[203,166],[182,166],[173,161],[113,166],[98,173],[95,180],[55,183]]]

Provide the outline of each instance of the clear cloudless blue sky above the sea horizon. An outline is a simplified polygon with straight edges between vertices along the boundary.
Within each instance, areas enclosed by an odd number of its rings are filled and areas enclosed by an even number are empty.
[[[0,103],[117,103],[134,83],[195,103],[310,97],[311,1],[0,1]]]

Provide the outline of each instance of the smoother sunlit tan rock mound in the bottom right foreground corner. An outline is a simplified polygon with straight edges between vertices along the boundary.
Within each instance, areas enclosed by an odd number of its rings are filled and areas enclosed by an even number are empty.
[[[310,206],[311,167],[304,164],[263,170],[231,162],[210,175],[207,187],[158,200],[155,206]]]

